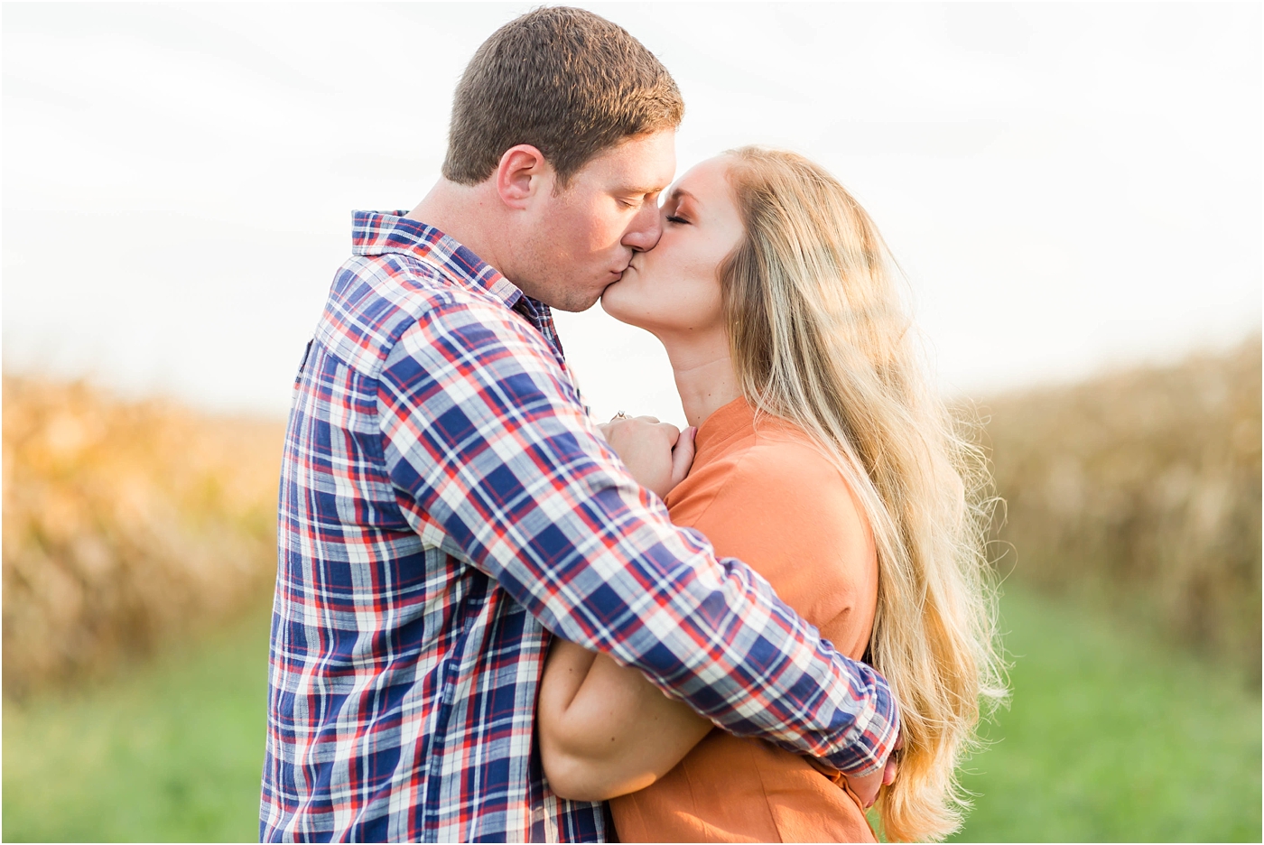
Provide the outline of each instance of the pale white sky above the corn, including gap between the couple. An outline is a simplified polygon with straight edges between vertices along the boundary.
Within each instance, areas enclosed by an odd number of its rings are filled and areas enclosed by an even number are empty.
[[[425,195],[531,5],[6,4],[5,369],[283,413],[350,211]],[[580,5],[679,82],[680,172],[766,143],[857,195],[948,390],[1260,326],[1258,4]],[[683,421],[652,337],[559,323],[597,414]]]

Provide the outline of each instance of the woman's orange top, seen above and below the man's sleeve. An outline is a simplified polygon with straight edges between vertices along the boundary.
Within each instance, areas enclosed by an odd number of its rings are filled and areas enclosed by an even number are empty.
[[[722,557],[762,575],[834,647],[860,659],[877,608],[877,554],[865,512],[838,470],[791,423],[746,399],[699,428],[671,519]],[[652,786],[611,801],[622,841],[872,842],[856,798],[828,767],[713,730]]]

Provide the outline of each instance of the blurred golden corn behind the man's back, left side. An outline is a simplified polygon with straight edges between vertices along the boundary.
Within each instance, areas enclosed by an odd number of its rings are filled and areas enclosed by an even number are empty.
[[[263,600],[281,423],[4,378],[4,693]]]

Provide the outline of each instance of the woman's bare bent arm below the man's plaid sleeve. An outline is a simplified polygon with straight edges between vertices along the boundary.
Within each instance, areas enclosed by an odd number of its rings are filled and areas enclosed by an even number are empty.
[[[549,786],[604,801],[653,783],[712,730],[635,668],[554,638],[537,707]]]

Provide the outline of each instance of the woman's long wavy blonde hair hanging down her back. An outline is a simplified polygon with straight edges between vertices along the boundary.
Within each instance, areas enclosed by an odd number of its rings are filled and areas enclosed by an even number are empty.
[[[870,656],[900,705],[904,750],[878,807],[895,840],[938,840],[981,709],[1006,693],[985,554],[990,477],[932,387],[882,236],[795,153],[729,153],[746,236],[720,265],[729,346],[758,414],[789,419],[863,503],[878,557]]]

